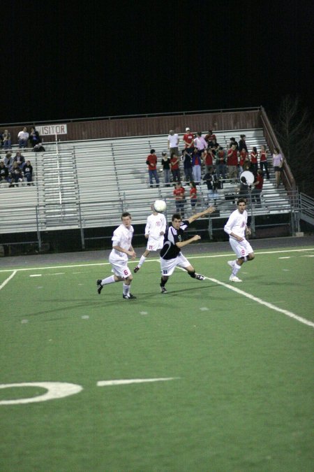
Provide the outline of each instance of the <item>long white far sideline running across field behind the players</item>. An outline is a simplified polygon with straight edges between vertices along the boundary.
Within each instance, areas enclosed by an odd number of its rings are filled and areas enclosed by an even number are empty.
[[[314,248],[307,248],[307,249],[285,249],[285,250],[278,250],[278,251],[254,251],[256,255],[261,254],[281,254],[282,252],[304,252],[304,251],[314,251]],[[234,257],[234,252],[230,254],[218,254],[218,255],[197,255],[197,256],[188,256],[188,259],[211,259],[214,257]],[[136,261],[128,261],[128,264],[132,264]],[[147,262],[159,262],[158,259],[146,259],[145,264]],[[23,267],[23,269],[15,269],[15,271],[22,272],[22,271],[43,271],[45,269],[73,269],[73,267],[94,267],[94,266],[110,266],[110,262],[93,262],[91,264],[72,264],[67,266],[46,266],[46,267]],[[13,269],[1,269],[1,272],[12,272]]]

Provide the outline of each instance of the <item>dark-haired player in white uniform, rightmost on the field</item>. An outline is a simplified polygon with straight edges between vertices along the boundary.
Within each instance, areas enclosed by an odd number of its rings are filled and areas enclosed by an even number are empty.
[[[246,199],[238,199],[237,207],[237,210],[231,213],[224,227],[225,232],[229,234],[232,250],[237,255],[235,261],[227,262],[231,267],[231,276],[229,278],[231,282],[242,282],[237,277],[241,265],[244,262],[253,260],[255,257],[251,244],[246,241],[246,234],[251,234],[251,229],[247,226],[248,212],[246,211]]]

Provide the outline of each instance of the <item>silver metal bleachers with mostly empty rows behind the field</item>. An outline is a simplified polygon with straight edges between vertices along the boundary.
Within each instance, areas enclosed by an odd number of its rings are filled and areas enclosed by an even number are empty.
[[[262,129],[215,131],[217,141],[227,147],[230,137],[246,134],[248,150],[266,145]],[[182,146],[182,135],[179,135]],[[46,152],[31,153],[34,185],[25,183],[18,188],[1,184],[0,233],[47,231],[112,226],[119,222],[122,211],[130,211],[133,223],[144,223],[152,201],[167,201],[167,212],[175,209],[172,187],[149,187],[146,158],[151,148],[160,162],[167,150],[167,136],[140,136],[96,141],[45,143]],[[29,152],[29,151],[26,151]],[[218,190],[220,217],[227,217],[234,203],[225,193],[236,192],[237,183],[225,180]],[[186,192],[188,193],[188,191]],[[204,208],[213,196],[208,196],[202,183],[197,191],[198,208]],[[276,189],[274,173],[264,180],[262,206],[255,214],[290,212],[290,199],[283,185]],[[186,216],[191,209],[186,203]]]

